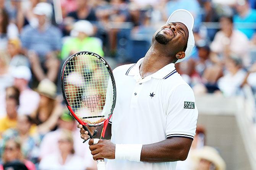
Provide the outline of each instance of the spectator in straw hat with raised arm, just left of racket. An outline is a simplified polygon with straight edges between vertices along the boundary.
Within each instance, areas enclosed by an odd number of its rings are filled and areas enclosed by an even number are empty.
[[[56,97],[56,89],[52,81],[44,79],[36,90],[40,95],[39,106],[30,116],[37,125],[37,131],[42,135],[56,128],[57,120],[62,113],[62,100]]]

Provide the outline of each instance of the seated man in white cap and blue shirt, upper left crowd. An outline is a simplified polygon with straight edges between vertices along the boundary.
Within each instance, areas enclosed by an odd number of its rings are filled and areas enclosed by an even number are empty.
[[[21,33],[24,52],[38,81],[45,78],[55,81],[60,65],[57,55],[61,48],[61,32],[50,23],[52,6],[49,3],[38,3],[33,12],[38,25],[24,27]]]

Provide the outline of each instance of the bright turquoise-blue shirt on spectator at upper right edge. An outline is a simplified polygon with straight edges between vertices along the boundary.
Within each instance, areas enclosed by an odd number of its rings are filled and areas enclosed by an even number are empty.
[[[253,34],[256,32],[256,29],[248,29],[248,27],[251,27],[256,24],[256,10],[250,10],[247,16],[241,17],[238,14],[234,16],[234,23],[238,30],[245,33],[245,35],[251,39],[253,37]],[[248,23],[248,24],[246,24]],[[244,27],[244,28],[240,28]]]

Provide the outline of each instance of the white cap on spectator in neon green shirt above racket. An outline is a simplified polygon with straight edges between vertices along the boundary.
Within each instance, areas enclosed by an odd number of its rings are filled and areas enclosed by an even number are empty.
[[[78,34],[78,32],[86,33],[86,35],[91,36],[93,34],[93,25],[91,22],[86,20],[79,20],[75,22],[73,33]]]

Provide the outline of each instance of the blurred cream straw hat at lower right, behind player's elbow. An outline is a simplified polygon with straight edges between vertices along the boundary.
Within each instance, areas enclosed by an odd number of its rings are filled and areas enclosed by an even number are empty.
[[[216,170],[225,170],[226,164],[222,157],[220,157],[218,151],[210,146],[204,146],[201,149],[196,149],[191,153],[192,159],[200,161],[200,159],[206,159],[215,165]]]

